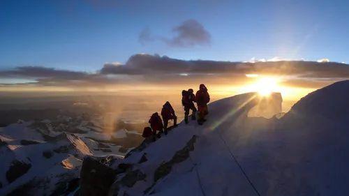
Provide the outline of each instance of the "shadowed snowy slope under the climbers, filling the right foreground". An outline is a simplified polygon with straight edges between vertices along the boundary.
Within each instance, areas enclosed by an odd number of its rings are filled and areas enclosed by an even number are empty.
[[[281,119],[247,117],[260,102],[256,93],[218,100],[203,126],[180,123],[129,153],[122,163],[131,167],[117,175],[110,192],[347,195],[348,97],[349,81],[337,82],[309,94]]]

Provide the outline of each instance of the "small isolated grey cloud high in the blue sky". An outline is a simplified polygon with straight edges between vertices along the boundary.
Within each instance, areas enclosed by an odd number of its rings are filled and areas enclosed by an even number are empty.
[[[209,45],[211,35],[205,27],[196,20],[186,20],[172,29],[174,37],[152,36],[149,28],[140,32],[138,41],[144,45],[147,42],[160,40],[171,47],[194,47],[197,45]]]

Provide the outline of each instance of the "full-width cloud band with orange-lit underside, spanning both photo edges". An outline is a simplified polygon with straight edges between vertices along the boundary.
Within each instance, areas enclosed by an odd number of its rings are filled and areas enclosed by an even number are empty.
[[[27,84],[36,86],[72,87],[139,86],[138,84],[242,84],[246,80],[251,80],[246,75],[279,75],[292,78],[292,80],[285,81],[285,84],[315,86],[329,81],[348,79],[349,65],[314,61],[256,61],[254,63],[186,61],[157,54],[135,54],[124,64],[105,63],[96,73],[41,66],[21,66],[12,70],[1,70],[0,81],[10,78],[28,80],[31,82]]]

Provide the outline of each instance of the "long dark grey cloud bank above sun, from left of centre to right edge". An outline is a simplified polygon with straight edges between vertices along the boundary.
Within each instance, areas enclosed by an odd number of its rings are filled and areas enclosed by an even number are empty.
[[[331,66],[329,66],[331,65]],[[221,74],[246,75],[281,74],[297,75],[297,77],[349,77],[349,66],[342,63],[318,63],[313,61],[185,61],[172,59],[168,56],[135,54],[125,65],[105,65],[103,74],[131,74],[131,75],[158,75],[158,74]]]

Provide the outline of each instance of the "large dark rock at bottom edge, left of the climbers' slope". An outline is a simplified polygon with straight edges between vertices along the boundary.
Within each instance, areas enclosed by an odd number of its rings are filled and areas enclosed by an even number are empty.
[[[116,173],[98,160],[84,158],[80,172],[80,195],[107,195]]]

